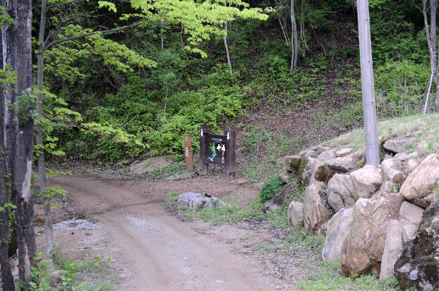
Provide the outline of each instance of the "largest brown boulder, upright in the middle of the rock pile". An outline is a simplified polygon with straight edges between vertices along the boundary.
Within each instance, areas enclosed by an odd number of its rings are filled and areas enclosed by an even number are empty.
[[[374,273],[379,276],[387,225],[398,218],[402,204],[399,193],[379,192],[372,199],[359,199],[352,207],[353,218],[341,247],[343,274]]]

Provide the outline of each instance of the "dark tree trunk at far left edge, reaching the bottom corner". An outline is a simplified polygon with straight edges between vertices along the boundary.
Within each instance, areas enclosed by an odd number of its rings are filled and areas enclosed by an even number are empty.
[[[2,287],[3,290],[14,290],[14,279],[12,278],[11,268],[9,266],[9,211],[5,204],[9,201],[9,189],[6,181],[6,148],[4,142],[4,97],[0,93],[0,268],[2,269]],[[3,209],[3,210],[1,210]]]

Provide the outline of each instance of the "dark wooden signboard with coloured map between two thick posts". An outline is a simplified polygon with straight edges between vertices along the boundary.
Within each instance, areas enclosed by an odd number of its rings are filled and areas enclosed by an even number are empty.
[[[209,164],[225,166],[226,177],[235,177],[236,129],[213,134],[207,125],[200,128],[200,171],[207,174]]]

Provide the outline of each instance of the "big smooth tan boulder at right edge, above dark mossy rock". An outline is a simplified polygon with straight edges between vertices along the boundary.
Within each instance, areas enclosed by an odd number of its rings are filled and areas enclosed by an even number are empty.
[[[399,190],[408,201],[426,208],[433,201],[439,180],[439,154],[430,154],[410,173]]]

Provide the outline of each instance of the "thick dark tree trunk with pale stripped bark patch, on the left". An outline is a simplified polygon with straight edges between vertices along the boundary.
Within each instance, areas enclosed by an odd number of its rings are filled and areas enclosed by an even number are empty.
[[[17,85],[19,131],[16,137],[13,166],[13,194],[17,207],[17,241],[19,245],[19,275],[27,284],[30,266],[36,255],[33,225],[33,200],[30,191],[33,150],[32,104],[32,5],[30,0],[17,1]],[[24,287],[26,288],[26,286]]]

